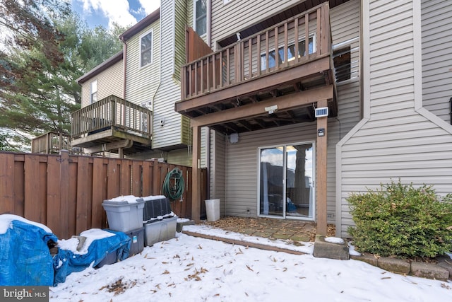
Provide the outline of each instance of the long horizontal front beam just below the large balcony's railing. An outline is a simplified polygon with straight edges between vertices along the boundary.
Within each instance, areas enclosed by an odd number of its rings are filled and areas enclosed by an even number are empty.
[[[299,79],[331,69],[330,63],[331,58],[329,54],[319,56],[315,60],[307,62],[306,64],[293,66],[280,72],[268,73],[256,79],[228,86],[228,88],[207,93],[205,95],[198,96],[197,98],[181,100],[174,105],[174,108],[177,112],[184,114],[184,112],[191,111],[196,108],[201,108],[206,105],[213,105],[215,103],[220,103],[222,100],[235,98],[237,95],[251,95],[258,91],[278,87],[282,83],[294,83]]]

